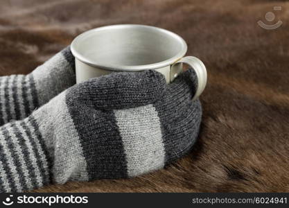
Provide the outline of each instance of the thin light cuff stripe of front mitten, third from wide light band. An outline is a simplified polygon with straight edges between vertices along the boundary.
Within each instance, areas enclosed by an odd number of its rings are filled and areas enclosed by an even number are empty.
[[[9,128],[9,127],[10,127],[10,123],[3,125],[3,128]],[[3,154],[6,155],[7,157],[8,166],[12,173],[12,178],[15,181],[17,192],[22,192],[22,187],[20,186],[20,182],[19,182],[20,175],[18,174],[16,170],[16,166],[12,160],[12,155],[10,153],[10,150],[7,146],[6,140],[3,135],[3,130],[0,130],[0,143],[3,146]]]

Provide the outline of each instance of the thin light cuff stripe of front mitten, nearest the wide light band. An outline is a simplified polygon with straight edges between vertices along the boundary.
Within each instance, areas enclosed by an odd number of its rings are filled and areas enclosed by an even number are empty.
[[[26,144],[26,146],[28,148],[30,162],[32,163],[33,170],[35,172],[35,176],[36,176],[36,181],[37,181],[38,187],[42,187],[43,180],[42,180],[42,177],[41,177],[40,169],[38,168],[38,165],[37,165],[37,157],[36,157],[36,155],[35,155],[35,153],[33,151],[32,144],[30,143],[30,141],[28,139],[28,135],[26,134],[26,131],[24,130],[24,128],[22,128],[22,126],[18,122],[16,123],[16,126],[19,129],[19,132],[21,133],[21,135],[23,136],[23,138],[25,140],[25,144]]]

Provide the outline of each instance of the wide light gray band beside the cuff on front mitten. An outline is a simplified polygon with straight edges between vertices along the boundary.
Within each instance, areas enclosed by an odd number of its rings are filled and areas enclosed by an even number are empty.
[[[67,180],[87,181],[87,163],[82,153],[78,132],[65,103],[65,92],[42,107],[41,111],[34,112],[33,117],[40,123],[40,132],[46,138],[46,145],[53,146],[55,156],[53,172],[57,173],[53,174],[55,182],[62,184]],[[63,121],[66,128],[59,128],[63,125]],[[50,128],[58,129],[57,134],[51,135],[55,132],[49,131]]]

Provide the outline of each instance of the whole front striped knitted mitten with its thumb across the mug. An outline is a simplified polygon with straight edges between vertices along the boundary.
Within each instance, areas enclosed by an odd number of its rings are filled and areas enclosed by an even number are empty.
[[[200,101],[189,70],[167,85],[157,71],[111,73],[74,85],[0,128],[0,191],[68,180],[133,177],[187,153]]]

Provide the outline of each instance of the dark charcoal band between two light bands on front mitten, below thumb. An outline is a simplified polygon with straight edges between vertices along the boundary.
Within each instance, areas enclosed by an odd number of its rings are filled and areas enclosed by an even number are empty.
[[[67,90],[66,103],[80,137],[89,180],[128,177],[114,112],[96,110],[92,107],[94,101],[87,99],[87,94],[76,92],[78,89],[81,87]]]

